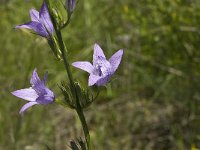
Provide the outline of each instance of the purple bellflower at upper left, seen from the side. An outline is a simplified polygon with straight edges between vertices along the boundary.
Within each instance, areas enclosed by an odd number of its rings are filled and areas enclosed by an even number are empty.
[[[53,24],[51,22],[47,6],[43,2],[40,12],[35,9],[29,11],[30,22],[16,26],[15,28],[25,28],[34,33],[49,39],[49,34],[53,34]]]

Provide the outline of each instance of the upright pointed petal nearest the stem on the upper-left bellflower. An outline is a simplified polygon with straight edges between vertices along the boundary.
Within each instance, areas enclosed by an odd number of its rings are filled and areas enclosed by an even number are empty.
[[[39,12],[39,16],[40,16],[40,21],[45,26],[46,30],[48,30],[48,32],[50,32],[52,34],[53,33],[53,24],[51,22],[49,12],[48,12],[45,2],[43,2],[43,4],[42,4],[42,7]]]

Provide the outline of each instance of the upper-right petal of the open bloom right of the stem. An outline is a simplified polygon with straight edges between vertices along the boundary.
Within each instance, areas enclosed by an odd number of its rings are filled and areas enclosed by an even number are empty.
[[[121,62],[121,59],[122,59],[122,55],[123,55],[123,50],[120,49],[115,54],[113,54],[111,56],[111,58],[109,59],[109,62],[112,65],[112,68],[113,68],[113,73],[118,68],[118,66],[119,66],[119,64]]]

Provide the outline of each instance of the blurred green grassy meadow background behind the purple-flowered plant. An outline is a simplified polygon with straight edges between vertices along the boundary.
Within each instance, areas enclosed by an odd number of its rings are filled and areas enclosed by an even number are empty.
[[[48,70],[48,87],[66,80],[42,38],[14,30],[42,0],[0,1],[0,149],[69,149],[83,137],[73,110],[34,106],[10,94]],[[200,148],[200,0],[79,0],[63,30],[70,62],[91,61],[95,42],[110,57],[124,49],[112,82],[85,110],[95,150]],[[82,84],[87,74],[72,69]]]

